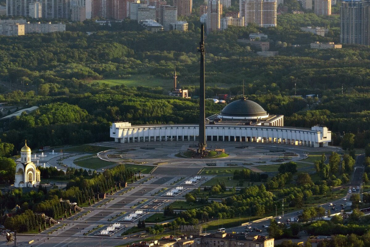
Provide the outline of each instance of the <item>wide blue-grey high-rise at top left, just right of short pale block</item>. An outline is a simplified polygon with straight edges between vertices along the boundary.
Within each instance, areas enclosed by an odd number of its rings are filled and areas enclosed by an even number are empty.
[[[70,0],[41,0],[43,18],[64,18],[71,17]]]

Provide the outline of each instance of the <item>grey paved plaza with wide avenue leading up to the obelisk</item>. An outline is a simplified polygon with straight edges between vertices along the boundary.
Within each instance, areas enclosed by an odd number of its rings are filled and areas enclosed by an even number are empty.
[[[236,164],[238,167],[244,166],[249,169],[258,171],[254,168],[256,165],[276,164],[272,160],[284,157],[284,152],[295,153],[291,156],[293,161],[301,160],[306,157],[305,152],[308,151],[327,151],[335,148],[311,148],[306,146],[291,146],[291,145],[276,145],[263,143],[243,143],[248,148],[236,148],[242,143],[236,142],[208,142],[209,148],[224,148],[225,152],[230,154],[225,158],[218,159],[188,159],[178,158],[175,155],[181,151],[189,148],[189,145],[195,145],[194,142],[151,142],[151,143],[116,143],[116,142],[101,142],[93,145],[106,146],[107,152],[100,153],[100,158],[120,163],[122,160],[134,160],[133,164],[144,163],[144,165],[153,166],[151,174],[144,174],[144,178],[129,184],[126,188],[119,190],[113,195],[108,195],[105,199],[95,203],[91,207],[84,208],[84,210],[68,219],[60,221],[60,224],[53,226],[40,234],[18,234],[17,246],[32,246],[32,247],[94,247],[94,246],[117,246],[128,243],[129,241],[140,241],[137,237],[138,233],[131,234],[123,238],[121,233],[133,227],[137,222],[122,222],[124,216],[135,212],[136,210],[143,210],[145,215],[142,219],[146,219],[155,212],[147,212],[146,209],[153,205],[154,200],[168,200],[160,203],[156,209],[163,209],[166,205],[172,202],[185,200],[184,195],[195,187],[198,187],[206,181],[212,179],[213,176],[201,175],[201,180],[195,185],[184,185],[184,182],[208,167],[207,163],[215,163],[216,167],[231,168],[228,164]],[[147,149],[141,149],[145,147]],[[154,148],[154,149],[150,149]],[[132,149],[132,150],[127,150]],[[124,150],[124,152],[122,152]],[[284,151],[283,151],[284,150]],[[120,154],[120,156],[117,156]],[[60,157],[58,154],[48,157],[46,160],[49,163],[55,164],[55,160]],[[86,155],[86,154],[85,154]],[[116,158],[109,158],[116,155]],[[80,157],[80,155],[71,156],[73,159]],[[118,158],[117,158],[118,157]],[[66,159],[64,159],[64,164]],[[44,160],[43,160],[44,161]],[[54,163],[53,163],[54,162]],[[260,162],[260,163],[259,163]],[[154,165],[155,163],[163,163],[162,165]],[[243,165],[247,164],[247,165]],[[72,164],[71,164],[72,165]],[[112,166],[117,163],[112,162]],[[214,166],[212,166],[214,167]],[[147,180],[148,178],[151,178]],[[147,180],[144,182],[144,180]],[[162,196],[171,189],[178,186],[184,188],[184,192],[178,196]],[[158,193],[159,190],[163,190]],[[113,200],[112,200],[113,199]],[[221,201],[220,199],[212,199]],[[148,206],[148,205],[149,206]],[[147,207],[144,207],[147,205]],[[122,213],[124,212],[124,213]],[[120,215],[121,214],[121,215]],[[116,217],[117,215],[120,215]],[[112,219],[114,218],[114,219]],[[95,236],[98,231],[107,228],[110,224],[121,223],[122,229],[114,233],[110,237]],[[57,227],[64,225],[62,229]],[[150,226],[150,223],[147,223]],[[101,226],[101,227],[98,227]],[[90,233],[88,233],[90,231]],[[34,240],[33,243],[28,244],[29,241]],[[1,242],[1,246],[8,246],[5,239]],[[9,246],[14,246],[10,243]]]

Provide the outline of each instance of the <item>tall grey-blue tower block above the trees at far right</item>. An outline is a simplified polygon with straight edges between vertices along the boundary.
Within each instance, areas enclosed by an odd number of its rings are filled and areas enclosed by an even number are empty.
[[[340,6],[340,43],[367,44],[363,35],[363,2],[343,0]]]

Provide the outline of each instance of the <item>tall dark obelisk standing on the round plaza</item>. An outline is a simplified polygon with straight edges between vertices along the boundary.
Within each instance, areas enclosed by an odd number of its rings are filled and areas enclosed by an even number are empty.
[[[199,88],[199,143],[198,153],[202,155],[207,144],[206,144],[206,124],[205,124],[205,94],[204,94],[204,26],[201,26],[201,42],[199,42],[199,50],[201,53],[201,80]]]

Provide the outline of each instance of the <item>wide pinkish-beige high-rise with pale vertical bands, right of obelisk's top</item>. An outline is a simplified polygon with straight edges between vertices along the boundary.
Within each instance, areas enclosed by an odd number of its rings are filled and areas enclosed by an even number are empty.
[[[240,0],[239,13],[245,26],[255,23],[260,27],[276,27],[276,0]]]

